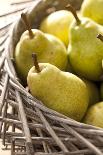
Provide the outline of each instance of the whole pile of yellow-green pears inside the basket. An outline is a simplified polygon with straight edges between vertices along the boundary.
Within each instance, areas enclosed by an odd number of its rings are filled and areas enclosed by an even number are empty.
[[[21,83],[43,104],[71,119],[103,128],[103,0],[84,0],[50,13],[15,48]],[[35,20],[35,19],[34,19]]]

